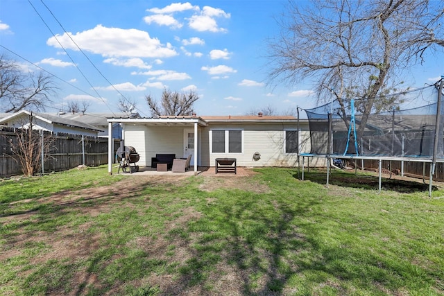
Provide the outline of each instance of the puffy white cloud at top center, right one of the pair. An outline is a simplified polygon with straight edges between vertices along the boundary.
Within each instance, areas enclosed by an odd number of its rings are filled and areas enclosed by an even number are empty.
[[[200,15],[193,15],[189,18],[188,25],[190,28],[199,32],[227,32],[227,29],[219,27],[215,19],[216,17],[225,17],[226,19],[229,19],[231,15],[220,8],[204,6],[203,10],[200,11]]]

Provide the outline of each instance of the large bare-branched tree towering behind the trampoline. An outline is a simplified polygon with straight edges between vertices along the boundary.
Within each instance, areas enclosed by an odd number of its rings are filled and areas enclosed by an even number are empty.
[[[443,1],[289,0],[287,11],[281,35],[269,42],[271,82],[310,78],[321,101],[335,89],[342,112],[346,92],[364,86],[354,94],[363,113],[358,137],[402,72],[444,46]]]

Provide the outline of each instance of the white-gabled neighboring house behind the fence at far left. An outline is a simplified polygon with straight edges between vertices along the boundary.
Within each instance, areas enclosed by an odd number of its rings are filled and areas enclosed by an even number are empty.
[[[33,129],[35,130],[46,130],[53,132],[53,134],[83,134],[90,137],[97,137],[99,132],[103,132],[103,130],[87,123],[65,119],[58,115],[26,110],[8,113],[6,117],[0,119],[0,125],[6,125],[9,128],[28,128],[31,114],[33,116]]]

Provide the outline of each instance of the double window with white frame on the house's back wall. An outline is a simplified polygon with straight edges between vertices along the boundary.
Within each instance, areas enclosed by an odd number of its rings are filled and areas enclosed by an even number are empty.
[[[243,130],[212,130],[212,153],[242,153]]]

